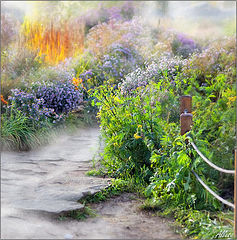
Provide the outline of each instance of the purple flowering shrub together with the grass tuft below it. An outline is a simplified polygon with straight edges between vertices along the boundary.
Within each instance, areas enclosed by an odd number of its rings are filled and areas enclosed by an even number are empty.
[[[80,86],[72,79],[35,82],[32,86],[12,89],[8,107],[2,115],[3,147],[29,150],[50,138],[49,129],[68,118],[75,124],[70,111],[83,101]],[[51,132],[51,131],[50,131]]]

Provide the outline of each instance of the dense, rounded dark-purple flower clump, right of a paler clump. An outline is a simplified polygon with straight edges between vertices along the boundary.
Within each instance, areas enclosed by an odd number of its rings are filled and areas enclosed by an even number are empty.
[[[37,99],[43,99],[43,107],[53,109],[56,114],[69,113],[83,102],[83,93],[71,80],[41,83],[33,87]]]

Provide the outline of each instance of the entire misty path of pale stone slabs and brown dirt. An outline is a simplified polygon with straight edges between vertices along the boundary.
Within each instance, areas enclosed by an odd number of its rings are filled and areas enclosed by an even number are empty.
[[[90,128],[38,151],[2,153],[1,239],[177,239],[167,220],[137,210],[131,194],[93,205],[95,218],[60,221],[61,212],[83,208],[82,196],[108,185],[85,176],[98,137]]]

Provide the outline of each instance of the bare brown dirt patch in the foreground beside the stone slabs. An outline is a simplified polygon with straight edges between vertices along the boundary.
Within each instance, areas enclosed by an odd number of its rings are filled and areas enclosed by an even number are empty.
[[[106,239],[179,239],[171,230],[172,222],[139,210],[141,199],[125,193],[92,205],[98,214],[87,219],[78,238]],[[89,229],[91,229],[89,231]],[[89,233],[89,235],[88,235]]]

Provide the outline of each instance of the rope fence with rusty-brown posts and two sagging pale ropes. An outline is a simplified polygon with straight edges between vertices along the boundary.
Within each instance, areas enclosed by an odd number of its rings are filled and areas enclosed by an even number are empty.
[[[180,124],[181,124],[181,135],[184,135],[185,133],[189,132],[191,130],[192,125],[192,97],[191,96],[182,96],[180,98]],[[193,142],[192,138],[190,136],[187,136],[187,141],[191,143],[194,150],[197,152],[197,154],[212,168],[215,170],[227,173],[227,174],[234,174],[235,180],[234,180],[234,204],[230,203],[229,201],[223,199],[218,194],[216,194],[210,187],[208,187],[203,180],[197,175],[197,173],[194,170],[191,170],[196,179],[199,181],[199,183],[210,193],[212,194],[216,199],[221,201],[223,204],[231,207],[234,209],[234,236],[237,238],[237,161],[236,161],[236,151],[235,151],[235,170],[227,170],[221,167],[216,166],[214,163],[212,163],[210,160],[208,160],[202,152],[198,149],[198,147]]]

